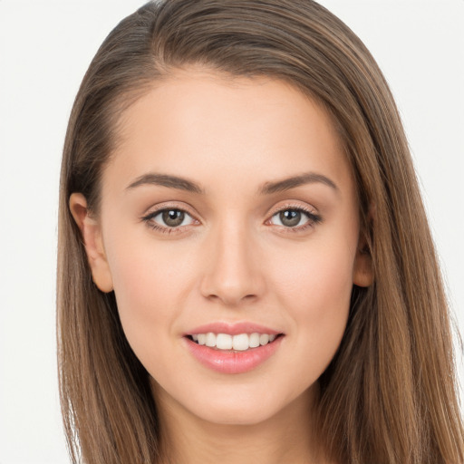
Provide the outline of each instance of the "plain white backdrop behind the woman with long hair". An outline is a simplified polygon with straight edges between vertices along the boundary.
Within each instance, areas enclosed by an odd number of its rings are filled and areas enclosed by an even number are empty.
[[[93,54],[141,3],[0,0],[0,464],[68,462],[54,323],[63,137]],[[464,0],[321,3],[391,84],[462,329]]]

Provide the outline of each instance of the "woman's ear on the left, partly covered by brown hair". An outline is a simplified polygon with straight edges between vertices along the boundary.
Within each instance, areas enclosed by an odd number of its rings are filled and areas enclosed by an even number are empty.
[[[102,227],[90,215],[87,200],[82,193],[73,193],[71,195],[69,208],[77,226],[81,230],[87,260],[92,271],[92,280],[102,292],[109,293],[113,289],[113,285],[110,266],[108,266],[103,247]]]

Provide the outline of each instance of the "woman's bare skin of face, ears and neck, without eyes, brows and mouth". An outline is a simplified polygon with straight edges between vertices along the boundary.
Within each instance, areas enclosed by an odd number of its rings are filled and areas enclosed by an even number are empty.
[[[312,438],[317,379],[341,342],[353,284],[372,284],[353,173],[326,112],[285,82],[190,69],[154,85],[120,128],[99,216],[79,193],[70,208],[93,280],[114,290],[150,372],[166,461],[326,462]],[[336,187],[316,180],[259,193],[310,172]],[[128,188],[148,173],[204,192]],[[189,216],[169,230],[154,214],[163,208]],[[299,208],[320,220],[282,222],[279,211]],[[285,336],[256,369],[214,372],[182,335],[218,321]]]

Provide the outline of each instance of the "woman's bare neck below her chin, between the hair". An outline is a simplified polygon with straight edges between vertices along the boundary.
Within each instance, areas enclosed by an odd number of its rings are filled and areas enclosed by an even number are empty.
[[[323,464],[314,438],[316,391],[307,391],[259,423],[223,424],[202,420],[156,386],[163,464]],[[154,391],[154,392],[155,392]]]

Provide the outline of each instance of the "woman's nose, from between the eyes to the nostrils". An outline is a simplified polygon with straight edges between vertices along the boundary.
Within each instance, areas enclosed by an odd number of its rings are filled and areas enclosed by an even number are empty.
[[[210,301],[237,307],[265,291],[263,264],[247,227],[223,225],[208,237],[201,293]]]

